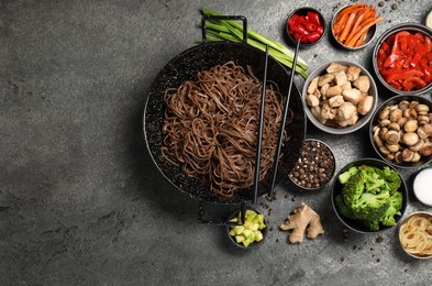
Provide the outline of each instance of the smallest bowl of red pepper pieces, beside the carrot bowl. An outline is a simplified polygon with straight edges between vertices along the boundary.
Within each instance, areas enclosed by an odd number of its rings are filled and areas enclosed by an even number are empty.
[[[310,7],[296,9],[287,20],[287,34],[292,43],[300,41],[304,47],[317,44],[325,33],[325,19]]]

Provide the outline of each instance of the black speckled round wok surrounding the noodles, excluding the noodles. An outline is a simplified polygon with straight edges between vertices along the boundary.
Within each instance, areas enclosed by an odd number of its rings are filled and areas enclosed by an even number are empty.
[[[252,188],[237,190],[229,199],[213,194],[210,186],[198,178],[185,175],[180,167],[167,163],[160,154],[163,142],[162,127],[164,124],[165,102],[162,91],[169,87],[178,87],[185,80],[193,79],[195,76],[204,69],[210,69],[215,65],[233,61],[236,65],[246,68],[252,66],[254,74],[258,78],[264,75],[265,53],[246,44],[217,42],[204,43],[193,46],[173,58],[157,75],[151,88],[145,110],[144,110],[144,135],[149,154],[160,170],[162,175],[182,193],[192,198],[207,202],[217,204],[239,204],[244,200],[252,200]],[[287,95],[289,74],[273,57],[268,58],[267,79],[275,81],[283,95]],[[277,174],[277,182],[285,180],[291,168],[295,166],[304,140],[306,117],[297,87],[293,87],[290,98],[290,109],[293,111],[293,120],[286,125],[286,132],[291,134],[291,139],[285,143],[281,150],[281,161]],[[269,190],[272,172],[259,183],[258,195],[262,196]]]

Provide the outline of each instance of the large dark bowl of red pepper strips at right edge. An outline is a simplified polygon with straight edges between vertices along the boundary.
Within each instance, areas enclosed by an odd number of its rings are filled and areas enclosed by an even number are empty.
[[[378,40],[373,65],[391,92],[420,95],[432,89],[432,30],[417,23],[390,28]]]

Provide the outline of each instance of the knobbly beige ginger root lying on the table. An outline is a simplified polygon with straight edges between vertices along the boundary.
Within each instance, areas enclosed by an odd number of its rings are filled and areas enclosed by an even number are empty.
[[[290,243],[303,242],[306,229],[309,239],[315,239],[319,234],[324,233],[320,216],[304,202],[301,202],[301,206],[288,216],[286,221],[280,224],[280,229],[292,230],[289,235]]]

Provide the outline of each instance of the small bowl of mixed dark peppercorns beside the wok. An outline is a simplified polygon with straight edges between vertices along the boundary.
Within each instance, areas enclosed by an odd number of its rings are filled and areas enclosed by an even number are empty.
[[[300,190],[318,190],[331,180],[335,168],[336,161],[330,146],[320,140],[307,139],[288,177]]]

